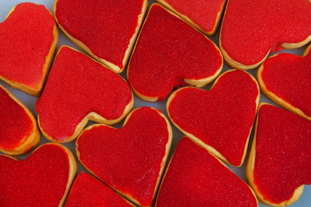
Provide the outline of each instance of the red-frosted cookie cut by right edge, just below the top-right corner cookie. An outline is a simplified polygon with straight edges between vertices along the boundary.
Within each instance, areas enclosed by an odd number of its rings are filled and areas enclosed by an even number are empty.
[[[281,53],[257,71],[260,90],[280,106],[311,121],[311,45],[303,57]]]

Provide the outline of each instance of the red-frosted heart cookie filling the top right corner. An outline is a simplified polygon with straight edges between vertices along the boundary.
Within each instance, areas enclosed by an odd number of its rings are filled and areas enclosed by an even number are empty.
[[[233,68],[252,69],[269,53],[311,40],[310,0],[228,0],[220,49]]]

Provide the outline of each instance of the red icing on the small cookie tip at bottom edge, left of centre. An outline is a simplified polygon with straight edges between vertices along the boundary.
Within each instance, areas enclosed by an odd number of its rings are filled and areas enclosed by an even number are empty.
[[[91,175],[78,174],[65,207],[133,207]]]

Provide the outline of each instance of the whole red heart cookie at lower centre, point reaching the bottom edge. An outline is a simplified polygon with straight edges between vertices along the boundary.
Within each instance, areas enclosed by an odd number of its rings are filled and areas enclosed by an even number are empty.
[[[142,207],[154,204],[172,142],[172,129],[157,109],[132,111],[121,129],[91,125],[77,139],[81,164]]]

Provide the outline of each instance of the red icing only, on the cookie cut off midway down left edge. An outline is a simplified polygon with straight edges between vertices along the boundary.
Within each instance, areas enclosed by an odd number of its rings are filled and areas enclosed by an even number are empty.
[[[0,97],[0,148],[12,150],[31,134],[33,124],[26,111],[1,87]]]

